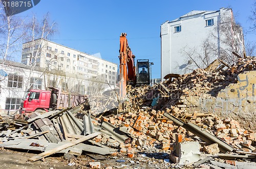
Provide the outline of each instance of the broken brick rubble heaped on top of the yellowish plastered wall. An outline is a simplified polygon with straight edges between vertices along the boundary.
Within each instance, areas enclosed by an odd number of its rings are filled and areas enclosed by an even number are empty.
[[[249,70],[256,70],[256,59],[254,57],[240,58],[237,64],[225,70],[209,72],[204,69],[196,69],[193,73],[182,75],[173,81],[167,80],[163,83],[166,88],[162,92],[169,94],[169,98],[160,100],[159,106],[163,108],[174,105],[179,108],[193,107],[194,105],[189,103],[186,97],[217,96],[219,91],[230,83],[237,83],[239,74]]]

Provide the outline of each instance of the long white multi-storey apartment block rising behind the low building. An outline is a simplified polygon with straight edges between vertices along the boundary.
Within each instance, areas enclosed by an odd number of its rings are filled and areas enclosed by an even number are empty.
[[[116,84],[117,64],[46,39],[24,43],[22,63]]]

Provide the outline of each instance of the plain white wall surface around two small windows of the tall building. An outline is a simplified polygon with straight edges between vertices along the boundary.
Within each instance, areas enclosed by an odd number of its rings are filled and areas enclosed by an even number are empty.
[[[217,33],[217,23],[220,20],[220,13],[225,14],[226,9],[220,11],[191,11],[180,19],[166,21],[161,25],[161,79],[167,74],[184,74],[184,66],[187,65],[188,55],[184,50],[191,53],[202,54],[202,42],[209,38],[216,45],[220,44],[217,38],[210,36],[210,33]],[[228,10],[231,14],[231,9]],[[213,26],[206,26],[207,19],[214,19]],[[181,32],[175,32],[175,27],[181,25]],[[195,53],[194,53],[194,56]],[[212,58],[212,61],[216,58]],[[196,59],[196,58],[195,58]],[[183,67],[182,67],[183,66]],[[197,67],[191,67],[195,69]]]

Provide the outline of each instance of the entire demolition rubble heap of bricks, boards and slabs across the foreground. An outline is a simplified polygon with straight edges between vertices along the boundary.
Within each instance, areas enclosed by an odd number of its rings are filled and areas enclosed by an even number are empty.
[[[90,108],[86,109],[80,105],[45,114],[33,113],[27,120],[2,118],[0,147],[45,153],[31,161],[50,155],[49,152],[76,156],[90,152],[136,160],[159,155],[165,161],[202,164],[201,167],[208,161],[211,168],[222,162],[234,165],[233,160],[238,159],[255,161],[255,131],[241,128],[230,117],[188,109],[197,106],[189,97],[215,97],[230,83],[237,83],[238,75],[248,70],[256,70],[255,58],[241,58],[225,70],[196,69],[152,87],[131,88],[125,111],[115,115],[104,113],[117,107],[116,95],[91,97]],[[213,160],[216,157],[225,161]],[[154,164],[152,159],[144,161]],[[90,163],[90,166],[100,167],[100,164]]]

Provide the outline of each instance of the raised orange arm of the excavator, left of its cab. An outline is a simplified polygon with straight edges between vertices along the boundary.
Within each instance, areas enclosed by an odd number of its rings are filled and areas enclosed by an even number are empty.
[[[134,58],[127,39],[126,33],[121,33],[120,36],[120,100],[123,101],[126,95],[126,85],[136,83],[136,67]]]

